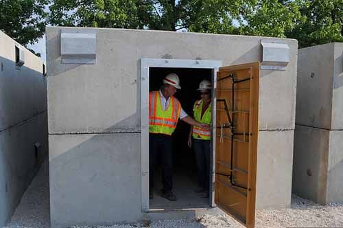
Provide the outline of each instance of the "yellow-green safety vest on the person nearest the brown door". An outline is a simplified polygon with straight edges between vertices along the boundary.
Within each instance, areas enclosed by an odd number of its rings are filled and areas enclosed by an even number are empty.
[[[204,112],[204,115],[202,115],[201,117],[203,105],[204,105],[204,102],[202,100],[199,100],[194,104],[193,106],[194,119],[196,119],[196,121],[200,123],[211,125],[211,103],[209,104],[209,107],[207,107],[206,111]],[[199,128],[198,126],[193,126],[192,135],[194,139],[210,140],[211,129],[205,130],[203,128]]]

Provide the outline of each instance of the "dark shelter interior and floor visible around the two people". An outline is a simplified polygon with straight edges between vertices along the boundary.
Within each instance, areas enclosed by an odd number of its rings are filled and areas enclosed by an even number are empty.
[[[200,100],[197,91],[202,80],[212,81],[211,69],[162,68],[150,67],[150,91],[158,91],[163,84],[163,78],[168,73],[176,73],[180,79],[181,89],[175,93],[182,109],[193,117],[193,104]],[[209,198],[202,198],[194,192],[197,187],[196,158],[191,148],[187,146],[190,126],[179,119],[172,137],[173,140],[173,192],[177,201],[162,198],[162,176],[160,162],[156,161],[154,171],[154,199],[150,201],[150,209],[187,209],[209,207]],[[161,160],[160,160],[161,161]]]

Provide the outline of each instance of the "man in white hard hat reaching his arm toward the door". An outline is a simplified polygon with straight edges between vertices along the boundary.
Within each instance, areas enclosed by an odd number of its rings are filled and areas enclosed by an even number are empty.
[[[181,89],[176,73],[169,73],[163,79],[159,91],[149,93],[149,198],[154,198],[154,163],[160,155],[162,165],[161,196],[169,201],[176,201],[173,188],[173,162],[171,135],[174,133],[178,119],[202,129],[209,129],[208,124],[196,122],[183,111],[180,102],[174,97],[176,89]]]

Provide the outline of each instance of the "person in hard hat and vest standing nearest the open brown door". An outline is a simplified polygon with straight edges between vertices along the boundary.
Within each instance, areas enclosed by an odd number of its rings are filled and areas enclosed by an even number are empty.
[[[211,88],[211,82],[202,80],[198,89],[201,100],[197,100],[193,106],[194,119],[202,124],[211,124]],[[193,147],[198,168],[198,187],[194,191],[204,198],[209,197],[210,143],[210,128],[191,126],[188,146]]]

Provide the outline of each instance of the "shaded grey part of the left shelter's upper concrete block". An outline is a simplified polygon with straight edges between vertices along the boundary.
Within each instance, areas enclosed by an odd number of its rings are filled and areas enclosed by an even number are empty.
[[[0,131],[47,111],[43,73],[0,57],[0,75]]]

